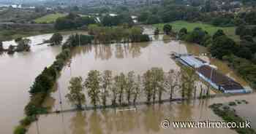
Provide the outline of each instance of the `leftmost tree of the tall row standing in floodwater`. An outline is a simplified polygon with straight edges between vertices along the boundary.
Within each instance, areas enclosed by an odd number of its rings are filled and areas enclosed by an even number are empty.
[[[86,96],[83,94],[82,77],[73,77],[69,81],[69,84],[69,93],[66,95],[66,98],[78,109],[82,109],[83,103],[86,102]]]

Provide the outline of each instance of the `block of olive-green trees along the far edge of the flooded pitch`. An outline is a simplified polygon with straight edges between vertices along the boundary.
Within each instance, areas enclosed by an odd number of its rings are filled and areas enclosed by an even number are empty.
[[[110,44],[112,42],[148,42],[150,38],[143,34],[143,28],[133,26],[105,27],[99,25],[89,25],[89,34],[94,36],[94,43]]]

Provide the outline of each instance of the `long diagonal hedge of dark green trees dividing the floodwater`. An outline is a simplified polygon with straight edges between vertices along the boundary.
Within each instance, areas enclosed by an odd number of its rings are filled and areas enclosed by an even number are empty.
[[[26,117],[21,119],[20,125],[15,127],[15,134],[26,133],[26,127],[37,119],[37,115],[47,112],[47,109],[42,107],[42,103],[45,101],[45,98],[48,96],[50,90],[53,89],[61,69],[70,58],[70,50],[72,50],[73,47],[79,45],[78,39],[80,38],[78,38],[78,36],[78,34],[69,36],[69,39],[62,47],[61,53],[56,56],[56,60],[53,62],[53,64],[49,67],[45,67],[42,73],[36,77],[33,85],[29,90],[31,95],[30,101],[24,109]],[[83,37],[80,39],[80,41],[83,42],[81,45],[86,45],[87,41],[84,41],[83,39]]]

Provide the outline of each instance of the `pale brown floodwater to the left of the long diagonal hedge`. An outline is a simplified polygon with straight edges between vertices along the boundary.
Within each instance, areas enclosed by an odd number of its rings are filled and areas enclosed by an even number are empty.
[[[70,32],[64,33],[64,40]],[[12,133],[18,121],[24,117],[23,109],[29,102],[29,87],[35,77],[50,66],[61,47],[48,47],[42,43],[52,33],[28,37],[31,39],[30,52],[15,52],[14,55],[0,55],[0,133]],[[7,48],[14,41],[3,42]]]

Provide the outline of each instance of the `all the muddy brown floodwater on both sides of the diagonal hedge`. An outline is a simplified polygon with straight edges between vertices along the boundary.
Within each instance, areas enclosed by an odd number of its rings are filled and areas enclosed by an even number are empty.
[[[151,31],[150,29],[148,31]],[[47,39],[49,37],[38,37]],[[31,37],[37,38],[37,37]],[[64,97],[67,94],[69,79],[72,76],[86,76],[94,69],[99,71],[112,70],[115,74],[128,71],[143,73],[151,67],[162,67],[164,71],[178,70],[179,66],[170,59],[170,52],[189,52],[200,56],[207,52],[204,47],[185,44],[175,40],[165,40],[167,36],[158,36],[159,41],[135,43],[135,44],[109,44],[88,45],[77,47],[72,51],[70,66],[64,67],[56,84],[56,90],[45,101],[45,106],[50,106],[51,111],[57,109],[71,109],[72,106]],[[67,39],[67,38],[66,38]],[[38,44],[32,40],[32,44]],[[33,43],[34,42],[34,43]],[[6,43],[7,45],[8,43]],[[18,120],[23,117],[23,107],[29,101],[29,87],[34,82],[35,76],[45,66],[50,65],[54,57],[60,52],[60,47],[47,47],[46,45],[32,45],[31,52],[15,53],[15,55],[0,56],[0,85],[1,85],[1,120],[10,122],[1,123],[1,133],[12,133]],[[219,60],[211,60],[211,63],[219,68],[222,73],[231,76],[244,86],[243,79]],[[4,66],[3,66],[4,65]],[[8,66],[8,68],[7,68]],[[246,98],[246,97],[244,97]],[[233,98],[230,98],[231,100]],[[59,101],[62,101],[60,106]],[[226,100],[226,98],[225,98]],[[31,125],[29,133],[170,133],[168,129],[162,129],[160,122],[163,119],[211,119],[221,120],[208,109],[208,104],[199,105],[199,102],[191,104],[165,103],[161,106],[139,106],[137,111],[120,112],[116,114],[114,109],[106,111],[81,111],[67,112],[64,114],[48,114],[39,117],[39,121]],[[223,101],[223,98],[219,98]],[[12,105],[10,105],[12,103]],[[250,101],[249,101],[250,103]],[[200,109],[199,109],[200,108]],[[246,109],[243,108],[243,110]],[[243,114],[243,113],[241,113]],[[248,114],[253,116],[252,114]],[[253,117],[252,117],[253,118]],[[255,121],[256,122],[256,121]],[[206,133],[207,129],[185,129],[177,133]],[[173,130],[176,132],[176,130]],[[210,132],[207,130],[207,132]],[[212,133],[236,133],[229,129],[218,129]]]

